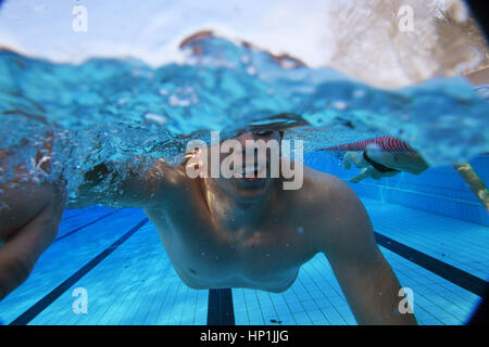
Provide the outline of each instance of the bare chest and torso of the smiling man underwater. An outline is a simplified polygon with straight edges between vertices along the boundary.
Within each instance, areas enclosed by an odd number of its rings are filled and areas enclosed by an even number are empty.
[[[166,192],[176,195],[164,207],[145,211],[158,229],[175,271],[192,288],[283,292],[294,282],[300,266],[315,254],[311,245],[314,221],[302,214],[299,201],[293,208],[278,207],[259,228],[226,230],[214,221],[191,182],[175,189]]]

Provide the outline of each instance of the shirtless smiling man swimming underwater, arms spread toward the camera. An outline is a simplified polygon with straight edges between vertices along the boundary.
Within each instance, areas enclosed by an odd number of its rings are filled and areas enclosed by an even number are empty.
[[[279,131],[271,130],[243,133],[237,140],[246,147],[246,140],[280,138]],[[79,198],[68,207],[143,208],[179,278],[192,288],[284,292],[300,267],[323,253],[360,324],[416,323],[413,314],[399,313],[399,281],[376,245],[364,206],[340,179],[304,167],[302,188],[284,190],[284,178],[258,178],[256,171],[252,179],[190,179],[188,162],[168,166],[160,159],[141,175],[140,159],[95,167],[86,174]],[[117,165],[129,170],[124,179],[115,174]],[[93,189],[110,172],[114,189],[104,193]],[[52,242],[63,210],[63,194],[55,187],[26,190],[32,190],[28,200],[15,200],[18,190],[8,193],[20,207],[1,216],[16,218],[15,223],[1,223],[8,239],[0,252],[8,247],[11,257],[0,261],[2,297],[27,277],[39,250]],[[24,237],[22,246],[9,245],[17,234],[27,233],[36,236]]]

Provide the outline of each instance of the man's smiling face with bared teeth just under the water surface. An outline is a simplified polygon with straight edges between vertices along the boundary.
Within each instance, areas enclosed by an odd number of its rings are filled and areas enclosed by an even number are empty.
[[[265,196],[273,179],[271,177],[272,153],[271,151],[264,151],[262,152],[263,155],[260,156],[258,151],[254,151],[255,155],[248,156],[247,160],[247,147],[253,147],[253,142],[259,140],[262,140],[267,145],[272,145],[275,142],[279,146],[280,133],[276,130],[254,131],[242,133],[235,140],[239,141],[242,151],[231,154],[234,157],[241,156],[241,166],[239,167],[236,165],[236,162],[233,162],[229,167],[234,171],[240,171],[242,178],[223,178],[220,176],[215,181],[224,192],[238,201],[244,203],[258,202]],[[250,143],[249,141],[252,142]],[[221,163],[228,156],[229,153],[221,153]]]

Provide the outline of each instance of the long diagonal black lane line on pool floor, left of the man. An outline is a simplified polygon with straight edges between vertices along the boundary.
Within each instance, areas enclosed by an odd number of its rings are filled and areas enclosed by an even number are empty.
[[[82,269],[72,274],[66,281],[61,283],[58,287],[52,290],[49,294],[47,294],[39,301],[34,304],[29,309],[27,309],[24,313],[18,316],[15,320],[13,320],[9,325],[26,325],[33,319],[35,319],[40,312],[42,312],[49,305],[51,305],[55,299],[58,299],[61,295],[63,295],[70,287],[72,287],[76,282],[78,282],[84,275],[90,272],[97,265],[99,265],[103,259],[105,259],[112,252],[117,249],[127,239],[129,239],[136,231],[138,231],[142,226],[148,222],[148,218],[142,219],[139,223],[136,224],[133,229],[126,232],[121,239],[105,248],[102,253],[100,253],[97,257],[88,261]]]

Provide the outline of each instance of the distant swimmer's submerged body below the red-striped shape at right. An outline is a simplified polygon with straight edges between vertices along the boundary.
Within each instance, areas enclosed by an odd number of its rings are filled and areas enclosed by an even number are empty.
[[[399,172],[419,175],[428,168],[428,164],[417,153],[392,153],[384,151],[367,151],[367,157],[392,170],[379,170],[368,163],[363,152],[347,152],[343,157],[343,167],[350,169],[352,165],[363,168],[360,175],[350,178],[350,182],[358,183],[365,178],[378,180],[383,177],[392,177]]]

